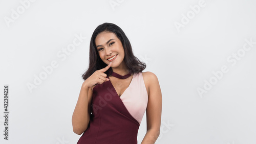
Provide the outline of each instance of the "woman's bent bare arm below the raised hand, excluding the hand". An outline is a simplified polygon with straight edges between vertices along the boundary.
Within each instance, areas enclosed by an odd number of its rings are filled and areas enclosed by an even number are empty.
[[[92,87],[88,88],[88,86],[83,82],[76,107],[72,115],[73,131],[78,135],[86,131],[90,122],[91,102]]]

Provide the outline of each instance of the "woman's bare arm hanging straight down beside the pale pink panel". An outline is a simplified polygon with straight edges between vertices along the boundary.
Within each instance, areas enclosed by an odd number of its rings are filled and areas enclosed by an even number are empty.
[[[151,72],[144,73],[148,85],[148,103],[146,108],[147,132],[141,144],[154,144],[160,134],[162,114],[162,93],[157,76]]]

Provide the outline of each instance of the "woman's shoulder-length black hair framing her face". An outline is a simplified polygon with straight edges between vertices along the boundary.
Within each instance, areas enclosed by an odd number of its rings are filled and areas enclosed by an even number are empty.
[[[129,39],[126,37],[121,28],[119,28],[114,23],[102,23],[99,25],[93,32],[91,41],[90,41],[90,57],[89,57],[89,68],[82,75],[83,80],[89,78],[96,70],[102,69],[107,66],[99,57],[98,51],[96,49],[95,39],[97,35],[101,32],[112,32],[114,33],[119,40],[122,42],[124,49],[124,62],[129,68],[131,73],[142,72],[146,68],[146,64],[141,62],[137,57],[134,56],[132,45]],[[109,72],[112,72],[112,67],[110,67],[105,74],[108,75]]]

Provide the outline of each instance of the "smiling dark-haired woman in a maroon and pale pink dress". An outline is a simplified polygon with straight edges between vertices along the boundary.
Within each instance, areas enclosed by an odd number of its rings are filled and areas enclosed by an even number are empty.
[[[113,23],[99,25],[90,42],[89,68],[82,75],[72,116],[77,143],[137,143],[146,111],[142,143],[155,143],[160,134],[162,95],[155,74],[133,55],[124,32]]]

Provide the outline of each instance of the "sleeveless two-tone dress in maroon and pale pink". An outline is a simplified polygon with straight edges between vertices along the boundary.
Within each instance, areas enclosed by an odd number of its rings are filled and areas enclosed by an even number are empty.
[[[137,144],[147,101],[142,73],[133,74],[120,97],[111,81],[97,84],[93,88],[90,122],[77,144]]]

